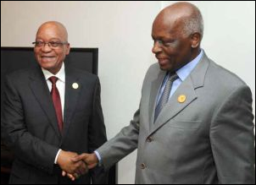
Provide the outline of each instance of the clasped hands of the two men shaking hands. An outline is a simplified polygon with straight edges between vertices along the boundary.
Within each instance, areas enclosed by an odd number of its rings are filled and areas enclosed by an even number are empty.
[[[94,153],[78,155],[75,152],[61,150],[57,159],[57,164],[62,169],[62,176],[67,176],[72,181],[86,174],[97,166],[97,163],[97,155]]]

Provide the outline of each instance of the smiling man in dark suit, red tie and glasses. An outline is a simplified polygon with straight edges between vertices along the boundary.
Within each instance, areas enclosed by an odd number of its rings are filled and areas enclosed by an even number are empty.
[[[63,24],[42,24],[34,44],[38,67],[6,78],[1,134],[15,155],[9,182],[107,183],[100,167],[75,182],[62,176],[62,171],[85,173],[86,164],[71,158],[107,140],[99,79],[65,68],[70,44]]]

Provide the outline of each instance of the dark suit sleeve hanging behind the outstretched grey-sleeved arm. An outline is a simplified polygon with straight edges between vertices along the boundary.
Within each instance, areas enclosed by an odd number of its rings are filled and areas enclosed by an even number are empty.
[[[92,153],[107,141],[106,128],[100,98],[100,83],[97,79],[93,95],[92,117],[89,123],[89,152]],[[107,184],[109,172],[97,166],[90,170],[93,184]]]

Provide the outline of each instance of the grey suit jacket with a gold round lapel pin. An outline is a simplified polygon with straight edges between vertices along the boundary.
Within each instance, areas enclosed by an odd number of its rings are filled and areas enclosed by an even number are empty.
[[[255,183],[248,85],[204,55],[153,122],[164,76],[148,69],[130,126],[97,150],[103,166],[137,148],[136,183]]]

